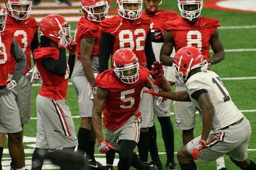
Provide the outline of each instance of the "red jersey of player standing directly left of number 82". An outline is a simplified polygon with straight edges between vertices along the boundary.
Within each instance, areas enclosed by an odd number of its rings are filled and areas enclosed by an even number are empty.
[[[75,41],[77,43],[77,59],[81,61],[81,39],[83,38],[96,38],[93,46],[92,56],[99,55],[99,41],[101,31],[99,24],[88,20],[85,17],[81,17],[76,27]]]

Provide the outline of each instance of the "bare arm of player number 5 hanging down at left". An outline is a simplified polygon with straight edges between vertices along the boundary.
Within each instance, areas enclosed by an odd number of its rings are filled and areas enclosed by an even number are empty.
[[[98,141],[104,139],[102,134],[101,113],[103,110],[104,103],[108,97],[108,93],[109,92],[107,90],[98,87],[97,94],[93,102],[92,125]]]

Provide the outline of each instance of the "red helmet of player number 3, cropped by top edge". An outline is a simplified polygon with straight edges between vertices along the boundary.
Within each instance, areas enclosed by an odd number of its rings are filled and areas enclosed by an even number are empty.
[[[30,16],[31,0],[5,0],[8,15],[17,20],[26,20]]]

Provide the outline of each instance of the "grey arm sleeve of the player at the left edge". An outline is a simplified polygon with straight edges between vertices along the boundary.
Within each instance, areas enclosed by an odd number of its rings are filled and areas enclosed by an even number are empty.
[[[18,83],[20,77],[22,76],[22,73],[25,70],[27,59],[25,53],[23,52],[22,48],[19,46],[15,38],[13,38],[12,40],[11,53],[16,60],[12,80],[15,80]]]

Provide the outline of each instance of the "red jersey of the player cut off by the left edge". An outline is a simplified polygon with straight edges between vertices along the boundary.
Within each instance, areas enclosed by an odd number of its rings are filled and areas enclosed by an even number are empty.
[[[0,85],[6,86],[6,80],[8,80],[8,67],[11,58],[13,32],[5,29],[3,32],[0,32],[0,36]]]

